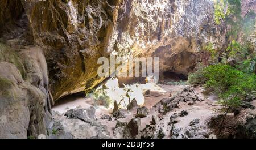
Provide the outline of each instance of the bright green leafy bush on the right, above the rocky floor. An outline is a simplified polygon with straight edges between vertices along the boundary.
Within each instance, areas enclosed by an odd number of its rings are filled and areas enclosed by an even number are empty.
[[[204,69],[207,79],[205,89],[211,89],[220,97],[220,104],[236,108],[247,93],[256,90],[256,75],[246,74],[229,65],[212,65]]]

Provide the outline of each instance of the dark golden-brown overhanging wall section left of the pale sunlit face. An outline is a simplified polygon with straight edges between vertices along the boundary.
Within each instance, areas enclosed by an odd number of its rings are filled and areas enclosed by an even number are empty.
[[[97,58],[108,57],[118,1],[22,1],[37,45],[46,52],[53,97],[90,89]]]

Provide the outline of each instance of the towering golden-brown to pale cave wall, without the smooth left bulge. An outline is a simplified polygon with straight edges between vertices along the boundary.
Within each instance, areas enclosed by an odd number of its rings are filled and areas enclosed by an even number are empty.
[[[0,37],[10,45],[43,49],[55,100],[101,83],[97,59],[113,50],[118,55],[159,57],[160,71],[186,75],[195,67],[201,46],[225,44],[224,30],[214,24],[212,0],[3,0],[0,4]],[[243,6],[247,10],[253,5]],[[20,37],[24,38],[13,40]]]

